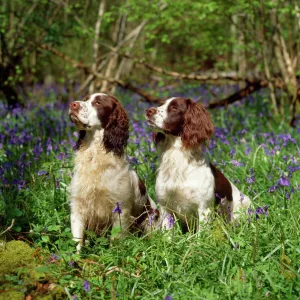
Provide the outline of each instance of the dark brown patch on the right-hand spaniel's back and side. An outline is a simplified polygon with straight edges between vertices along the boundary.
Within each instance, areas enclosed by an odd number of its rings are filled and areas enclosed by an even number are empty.
[[[232,201],[232,188],[228,179],[214,165],[209,164],[215,178],[215,193],[221,198]],[[216,204],[220,203],[220,198],[216,197]]]

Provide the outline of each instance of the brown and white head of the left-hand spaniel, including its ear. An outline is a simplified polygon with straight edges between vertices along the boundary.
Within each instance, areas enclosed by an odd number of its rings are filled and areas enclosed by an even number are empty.
[[[119,156],[124,153],[129,137],[129,121],[116,98],[97,93],[88,96],[86,101],[71,102],[69,117],[80,131],[79,139],[83,139],[87,131],[103,129],[106,151]],[[80,147],[80,141],[77,145]]]

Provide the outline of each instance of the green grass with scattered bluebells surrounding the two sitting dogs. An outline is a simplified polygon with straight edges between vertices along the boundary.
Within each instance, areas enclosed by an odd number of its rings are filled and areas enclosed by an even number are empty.
[[[288,128],[285,120],[273,118],[263,97],[258,94],[244,106],[212,112],[216,138],[209,155],[253,199],[254,210],[268,206],[267,216],[256,219],[255,213],[245,213],[230,225],[216,218],[197,234],[182,234],[178,225],[170,232],[114,241],[109,235],[97,237],[88,232],[89,244],[80,255],[71,240],[69,223],[67,186],[73,166],[69,139],[75,137],[66,112],[50,105],[18,113],[17,117],[3,115],[3,124],[8,124],[9,130],[19,126],[15,134],[18,138],[27,129],[32,139],[22,142],[22,147],[18,142],[11,143],[11,134],[2,141],[0,162],[13,163],[2,175],[6,181],[0,220],[3,230],[12,218],[15,224],[14,230],[1,238],[30,244],[35,249],[34,269],[43,274],[43,279],[29,276],[28,281],[26,266],[2,274],[0,299],[3,291],[10,290],[42,297],[48,291],[38,290],[37,282],[64,287],[67,294],[62,299],[74,295],[77,299],[298,299],[300,176],[299,170],[291,168],[299,167],[299,133]],[[130,100],[126,94],[119,98],[124,105]],[[133,167],[155,199],[157,154],[149,143],[146,124],[140,121],[144,107],[126,107],[133,120],[127,152],[130,158],[138,159]],[[32,152],[39,143],[37,137],[43,148],[38,155]],[[47,154],[48,137],[52,149]],[[66,154],[62,160],[57,158],[61,152]],[[22,158],[23,153],[26,158]],[[236,166],[232,160],[241,165]],[[26,162],[30,164],[22,167]],[[47,173],[39,175],[38,171]],[[20,189],[13,182],[18,176],[25,181]],[[251,176],[255,182],[249,181]],[[269,192],[281,177],[288,178],[290,185],[279,185]],[[3,253],[0,249],[0,255]]]

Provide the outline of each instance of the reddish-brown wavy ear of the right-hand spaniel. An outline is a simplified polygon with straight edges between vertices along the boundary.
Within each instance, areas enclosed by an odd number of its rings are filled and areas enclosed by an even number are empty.
[[[214,132],[214,125],[209,113],[201,105],[187,99],[188,108],[184,115],[181,140],[183,147],[191,149],[205,144]]]

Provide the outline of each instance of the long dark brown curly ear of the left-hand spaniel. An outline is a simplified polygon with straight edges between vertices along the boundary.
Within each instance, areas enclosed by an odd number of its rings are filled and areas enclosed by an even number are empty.
[[[128,138],[128,116],[121,104],[116,101],[113,112],[110,114],[108,123],[104,129],[104,147],[107,152],[113,152],[118,156],[122,156],[124,154]]]

